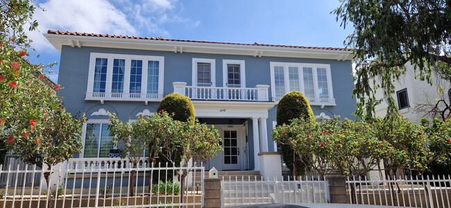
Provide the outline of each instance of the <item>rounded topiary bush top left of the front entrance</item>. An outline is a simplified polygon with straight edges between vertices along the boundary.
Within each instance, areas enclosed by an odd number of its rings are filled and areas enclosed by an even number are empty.
[[[160,102],[160,106],[158,106],[158,112],[161,110],[164,110],[169,114],[173,113],[173,119],[176,121],[194,124],[194,119],[196,117],[194,105],[187,96],[178,93],[172,93],[165,96]]]

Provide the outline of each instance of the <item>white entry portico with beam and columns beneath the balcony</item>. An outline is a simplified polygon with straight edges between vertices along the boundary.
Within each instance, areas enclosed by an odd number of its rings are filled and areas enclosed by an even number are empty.
[[[197,118],[252,120],[253,170],[259,171],[258,153],[269,151],[266,120],[269,109],[274,107],[275,103],[242,101],[193,101],[193,103]],[[215,123],[208,124],[215,125]]]

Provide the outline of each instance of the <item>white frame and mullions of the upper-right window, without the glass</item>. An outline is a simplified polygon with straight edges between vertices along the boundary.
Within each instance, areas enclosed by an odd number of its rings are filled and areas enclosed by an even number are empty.
[[[327,74],[327,87],[329,90],[329,98],[334,98],[334,90],[332,89],[332,73],[330,72],[330,64],[312,64],[312,63],[296,63],[296,62],[269,62],[270,73],[271,73],[271,96],[275,98],[275,77],[274,77],[274,67],[284,67],[284,84],[285,84],[285,94],[290,92],[289,87],[289,71],[288,67],[298,67],[299,74],[299,89],[304,93],[304,75],[303,67],[312,67],[313,73],[313,83],[315,98],[319,98],[318,92],[318,75],[317,68],[325,68]]]

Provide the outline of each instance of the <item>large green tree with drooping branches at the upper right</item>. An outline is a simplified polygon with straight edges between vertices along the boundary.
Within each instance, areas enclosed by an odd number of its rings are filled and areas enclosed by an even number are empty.
[[[354,48],[357,62],[357,116],[373,117],[378,88],[388,96],[388,113],[397,112],[393,81],[405,74],[408,62],[416,76],[429,83],[432,70],[450,75],[450,1],[344,0],[333,12],[341,26],[355,28],[346,45]]]

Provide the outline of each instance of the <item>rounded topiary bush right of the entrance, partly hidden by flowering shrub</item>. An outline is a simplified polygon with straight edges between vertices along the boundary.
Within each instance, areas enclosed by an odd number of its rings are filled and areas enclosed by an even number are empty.
[[[291,119],[296,118],[315,121],[312,107],[310,107],[310,103],[304,94],[298,91],[291,91],[280,99],[277,107],[276,121],[278,125],[289,125]],[[298,155],[295,157],[293,148],[288,144],[282,144],[280,145],[280,150],[284,162],[287,164],[290,171],[296,169],[296,173],[293,172],[295,175],[303,175],[305,166],[300,162]],[[295,160],[296,162],[294,162]],[[293,164],[295,165],[293,166]]]

